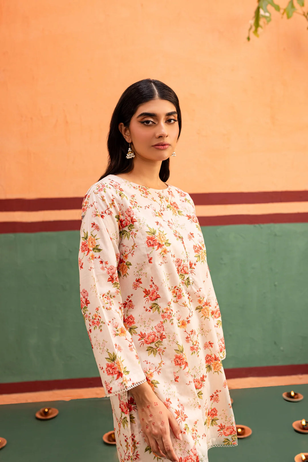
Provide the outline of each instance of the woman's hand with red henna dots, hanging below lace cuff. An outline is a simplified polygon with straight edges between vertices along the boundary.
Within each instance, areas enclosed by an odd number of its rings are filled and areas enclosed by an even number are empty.
[[[182,439],[181,429],[174,416],[157,398],[148,383],[141,383],[130,390],[137,405],[141,429],[152,452],[170,461],[179,462],[172,446],[170,428],[175,438]]]

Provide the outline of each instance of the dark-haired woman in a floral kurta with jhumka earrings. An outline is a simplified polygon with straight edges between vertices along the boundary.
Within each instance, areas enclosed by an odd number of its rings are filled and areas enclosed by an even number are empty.
[[[180,133],[169,86],[130,85],[82,206],[81,308],[121,462],[206,462],[237,445],[204,239],[191,197],[166,182]]]

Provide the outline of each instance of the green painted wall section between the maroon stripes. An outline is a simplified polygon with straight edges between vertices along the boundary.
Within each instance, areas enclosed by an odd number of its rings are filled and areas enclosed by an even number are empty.
[[[307,363],[308,223],[203,227],[224,368]],[[2,234],[0,382],[98,376],[79,305],[79,231]]]

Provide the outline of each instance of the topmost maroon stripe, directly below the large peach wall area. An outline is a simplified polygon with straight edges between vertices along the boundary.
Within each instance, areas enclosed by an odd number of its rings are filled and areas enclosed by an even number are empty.
[[[266,204],[269,202],[307,202],[304,191],[256,191],[237,193],[191,193],[195,205]],[[83,197],[46,197],[39,199],[0,199],[0,212],[37,212],[40,210],[81,209]]]

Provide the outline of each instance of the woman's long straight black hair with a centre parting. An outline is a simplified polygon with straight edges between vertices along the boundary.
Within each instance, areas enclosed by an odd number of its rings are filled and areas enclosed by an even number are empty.
[[[165,99],[175,105],[180,136],[181,110],[175,92],[160,80],[143,79],[135,82],[122,93],[113,111],[107,140],[109,163],[105,173],[98,181],[102,180],[104,176],[127,173],[133,169],[133,161],[126,158],[128,143],[119,130],[119,123],[123,122],[124,126],[128,127],[139,105],[156,98]],[[168,180],[169,174],[169,159],[166,159],[162,162],[159,178],[165,182]]]

